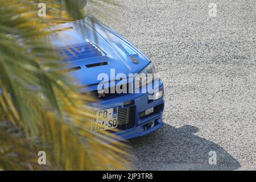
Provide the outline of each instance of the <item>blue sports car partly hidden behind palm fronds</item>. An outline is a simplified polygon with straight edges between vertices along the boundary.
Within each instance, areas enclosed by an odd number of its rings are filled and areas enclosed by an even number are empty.
[[[163,82],[151,61],[90,16],[79,21],[85,22],[85,31],[76,28],[77,22],[60,24],[52,43],[65,55],[67,71],[82,85],[81,92],[97,98],[92,131],[117,128],[116,135],[130,139],[162,127]]]

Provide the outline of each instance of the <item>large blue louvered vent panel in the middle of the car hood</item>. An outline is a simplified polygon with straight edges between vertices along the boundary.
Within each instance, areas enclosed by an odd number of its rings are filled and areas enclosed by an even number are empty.
[[[67,58],[65,60],[67,61],[77,61],[102,56],[102,52],[91,42],[64,47],[60,51],[60,54],[66,56]]]

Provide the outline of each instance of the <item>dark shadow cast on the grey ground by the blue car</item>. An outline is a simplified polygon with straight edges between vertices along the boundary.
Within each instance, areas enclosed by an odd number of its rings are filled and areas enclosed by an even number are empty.
[[[240,167],[224,148],[197,137],[197,131],[197,127],[190,125],[175,128],[165,124],[152,134],[129,140],[133,147],[133,167],[138,170],[234,170]],[[209,163],[211,151],[216,152],[216,164]]]

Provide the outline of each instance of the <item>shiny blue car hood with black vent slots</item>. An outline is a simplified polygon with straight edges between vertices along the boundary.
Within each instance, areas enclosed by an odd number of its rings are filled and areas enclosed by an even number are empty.
[[[77,28],[77,24],[85,28]],[[98,76],[106,74],[109,81],[115,75],[138,73],[150,62],[141,51],[104,24],[89,16],[60,24],[52,28],[54,33],[49,36],[52,44],[60,49],[67,62],[67,71],[81,85],[98,84]],[[138,63],[130,60],[133,56]],[[113,74],[110,75],[112,71]]]

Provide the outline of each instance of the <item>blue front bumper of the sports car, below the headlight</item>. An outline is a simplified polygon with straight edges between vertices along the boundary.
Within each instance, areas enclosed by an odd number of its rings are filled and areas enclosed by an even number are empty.
[[[148,96],[154,94],[157,90],[163,90],[163,82],[159,80],[157,88],[155,88],[154,82],[151,84],[152,89],[147,90],[147,93],[124,94],[121,97],[101,100],[95,103],[97,105],[94,106],[99,109],[118,107],[118,110],[126,108],[130,110],[129,123],[125,126],[118,127],[119,130],[114,133],[119,137],[118,140],[142,137],[163,126],[164,97],[158,100],[148,100]],[[154,107],[153,113],[143,117],[140,115],[143,111],[152,107]]]

